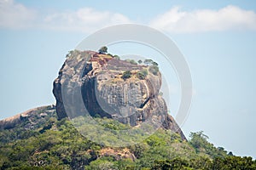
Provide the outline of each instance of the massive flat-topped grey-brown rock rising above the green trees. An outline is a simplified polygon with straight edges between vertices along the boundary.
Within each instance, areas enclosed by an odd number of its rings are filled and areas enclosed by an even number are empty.
[[[130,77],[123,77],[125,71],[130,71]],[[148,75],[138,77],[141,71],[147,71]],[[82,101],[90,116],[106,116],[131,126],[160,122],[162,127],[180,133],[185,139],[172,116],[167,114],[166,102],[159,94],[160,86],[160,71],[150,71],[148,65],[132,64],[93,51],[74,50],[67,54],[54,81],[53,94],[59,119],[79,116],[83,111],[78,109],[77,103]]]

